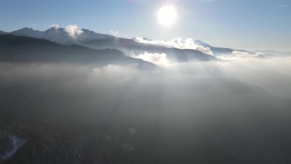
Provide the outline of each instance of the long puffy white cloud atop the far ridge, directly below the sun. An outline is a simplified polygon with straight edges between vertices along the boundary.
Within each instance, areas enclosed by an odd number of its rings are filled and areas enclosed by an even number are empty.
[[[194,49],[194,50],[198,50],[209,55],[213,55],[213,52],[211,51],[209,47],[198,45],[194,42],[193,39],[190,39],[190,38],[185,41],[182,41],[181,38],[174,38],[171,41],[159,41],[159,40],[145,40],[140,37],[135,37],[133,40],[137,42],[158,44],[158,45],[163,45],[166,47],[175,47],[179,49]]]

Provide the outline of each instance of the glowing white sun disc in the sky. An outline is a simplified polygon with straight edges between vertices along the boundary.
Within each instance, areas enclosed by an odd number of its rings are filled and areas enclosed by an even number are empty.
[[[172,6],[164,6],[158,12],[159,23],[163,26],[170,27],[175,23],[176,19],[177,13]]]

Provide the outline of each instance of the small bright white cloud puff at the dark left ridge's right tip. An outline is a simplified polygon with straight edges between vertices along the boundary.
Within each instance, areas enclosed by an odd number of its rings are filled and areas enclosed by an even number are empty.
[[[133,58],[143,59],[160,67],[167,67],[167,65],[170,63],[170,60],[167,58],[165,53],[147,53],[145,51],[144,53],[135,55],[133,52],[131,52],[130,56]]]

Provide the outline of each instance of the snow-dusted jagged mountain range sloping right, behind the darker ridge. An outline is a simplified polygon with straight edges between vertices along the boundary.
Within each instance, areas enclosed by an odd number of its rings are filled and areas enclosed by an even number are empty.
[[[193,49],[168,48],[161,45],[140,43],[130,39],[98,34],[87,29],[82,29],[81,31],[82,33],[75,37],[69,35],[65,29],[57,27],[52,27],[44,32],[33,30],[31,28],[23,28],[11,32],[11,34],[45,39],[60,44],[79,44],[90,48],[114,48],[126,53],[134,52],[135,54],[139,54],[145,51],[148,53],[166,53],[168,58],[173,62],[216,60],[216,57],[212,55],[204,54]]]

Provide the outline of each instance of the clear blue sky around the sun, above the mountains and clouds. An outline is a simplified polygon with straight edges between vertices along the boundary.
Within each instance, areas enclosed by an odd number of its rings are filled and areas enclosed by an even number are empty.
[[[165,4],[178,12],[169,29],[157,21]],[[51,24],[119,31],[123,38],[181,37],[220,47],[291,51],[291,0],[0,0],[2,31],[43,31]]]

